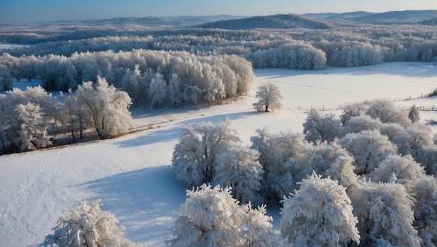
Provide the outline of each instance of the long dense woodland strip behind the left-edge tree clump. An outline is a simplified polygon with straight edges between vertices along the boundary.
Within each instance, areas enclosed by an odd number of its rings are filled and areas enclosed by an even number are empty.
[[[142,49],[75,52],[71,57],[49,54],[15,58],[4,53],[0,65],[0,78],[4,78],[6,89],[14,73],[16,80],[37,77],[46,91],[64,92],[75,91],[82,82],[97,83],[96,75],[100,75],[110,86],[126,91],[135,105],[150,107],[213,103],[245,95],[254,79],[251,63],[235,55]],[[9,70],[15,72],[7,73]]]

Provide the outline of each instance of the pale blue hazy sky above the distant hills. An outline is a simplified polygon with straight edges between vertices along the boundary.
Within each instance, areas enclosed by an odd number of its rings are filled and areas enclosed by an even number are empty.
[[[436,0],[0,0],[0,22],[429,9]]]

